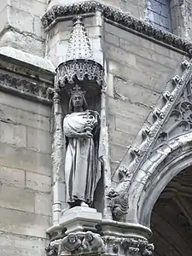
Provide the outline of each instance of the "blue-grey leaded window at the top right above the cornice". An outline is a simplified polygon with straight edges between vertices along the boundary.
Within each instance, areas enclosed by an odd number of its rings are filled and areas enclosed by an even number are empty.
[[[148,19],[154,26],[171,31],[170,0],[148,0]]]

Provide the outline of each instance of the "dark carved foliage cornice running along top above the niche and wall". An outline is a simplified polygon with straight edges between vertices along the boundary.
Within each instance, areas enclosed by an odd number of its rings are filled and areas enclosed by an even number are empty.
[[[108,20],[119,23],[119,25],[131,28],[137,32],[141,32],[150,38],[172,45],[173,47],[186,51],[191,55],[192,44],[189,41],[183,40],[183,38],[179,38],[172,33],[162,31],[142,20],[137,20],[127,13],[123,13],[111,6],[97,3],[96,1],[73,3],[70,5],[55,5],[43,16],[42,23],[45,28],[48,28],[57,18],[68,15],[92,13],[96,12],[98,9],[102,11],[102,15],[104,15]]]

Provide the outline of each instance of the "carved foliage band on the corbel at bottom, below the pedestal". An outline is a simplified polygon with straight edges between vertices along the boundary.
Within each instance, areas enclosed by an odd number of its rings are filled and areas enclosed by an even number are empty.
[[[147,240],[137,238],[119,238],[115,236],[99,236],[98,234],[87,231],[84,236],[77,234],[69,234],[63,239],[50,241],[45,248],[47,256],[60,256],[62,252],[65,255],[86,254],[95,255],[94,253],[105,253],[113,255],[113,253],[153,256],[154,245],[148,243]]]

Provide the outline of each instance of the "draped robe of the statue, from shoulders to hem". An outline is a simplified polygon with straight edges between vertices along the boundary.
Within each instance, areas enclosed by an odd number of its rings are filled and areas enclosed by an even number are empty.
[[[96,183],[101,177],[97,168],[97,154],[93,138],[79,137],[84,132],[87,122],[98,125],[98,113],[85,111],[68,114],[63,122],[64,135],[67,137],[67,152],[65,160],[65,180],[67,186],[67,202],[93,201]]]

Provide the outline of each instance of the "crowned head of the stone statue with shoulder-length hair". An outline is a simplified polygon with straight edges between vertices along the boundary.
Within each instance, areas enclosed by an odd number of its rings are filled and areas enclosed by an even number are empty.
[[[69,101],[69,112],[73,113],[74,108],[83,108],[87,107],[87,102],[84,97],[84,91],[78,86],[78,84],[73,87],[73,90],[70,90],[70,101]]]

